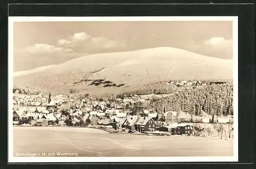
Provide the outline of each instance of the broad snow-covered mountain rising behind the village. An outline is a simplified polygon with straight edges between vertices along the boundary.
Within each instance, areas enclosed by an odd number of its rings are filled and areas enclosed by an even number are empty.
[[[112,93],[174,79],[232,79],[232,60],[173,47],[95,54],[14,77],[14,85],[57,93]]]

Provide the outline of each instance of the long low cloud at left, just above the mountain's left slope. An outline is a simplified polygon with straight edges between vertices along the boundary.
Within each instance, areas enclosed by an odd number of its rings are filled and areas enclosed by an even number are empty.
[[[64,47],[56,47],[46,43],[37,43],[33,46],[27,46],[20,52],[28,54],[42,54],[42,53],[70,53],[72,49],[65,49]]]

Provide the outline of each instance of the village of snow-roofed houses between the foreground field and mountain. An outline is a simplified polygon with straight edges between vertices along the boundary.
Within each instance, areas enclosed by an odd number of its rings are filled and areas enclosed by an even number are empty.
[[[185,87],[202,85],[200,81],[191,82],[191,85],[186,81],[176,84]],[[89,98],[88,95],[87,98],[81,98],[62,94],[52,96],[50,93],[20,94],[14,91],[13,125],[90,127],[112,133],[147,135],[189,136],[202,135],[200,131],[207,131],[206,127],[203,129],[194,124],[182,123],[181,114],[175,111],[164,112],[164,119],[159,120],[157,112],[146,109],[148,102],[149,98],[140,95],[125,95],[123,99],[98,99]],[[202,117],[201,123],[208,124],[209,118]],[[219,117],[218,123],[229,124],[230,120]]]

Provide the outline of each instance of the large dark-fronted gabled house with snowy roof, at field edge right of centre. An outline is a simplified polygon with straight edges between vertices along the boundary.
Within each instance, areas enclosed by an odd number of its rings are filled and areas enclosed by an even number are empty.
[[[140,117],[135,125],[135,130],[141,133],[146,131],[155,131],[156,126],[157,124],[152,117]]]

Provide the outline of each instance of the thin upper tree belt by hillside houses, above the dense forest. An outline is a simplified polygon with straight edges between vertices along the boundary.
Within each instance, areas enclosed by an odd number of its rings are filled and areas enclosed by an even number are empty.
[[[170,83],[173,82],[174,85],[177,83],[180,83],[182,80],[172,80],[172,81],[159,81],[159,82],[154,82],[151,84],[144,85],[140,88],[129,90],[122,92],[117,95],[118,98],[123,98],[124,95],[145,95],[145,94],[170,94],[175,91],[178,91],[181,89],[181,87],[173,87],[170,85]],[[189,80],[187,82],[194,82],[197,80]],[[202,84],[210,84],[210,82],[226,82],[228,84],[232,84],[232,80],[201,80]]]

